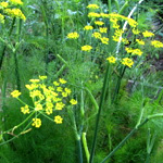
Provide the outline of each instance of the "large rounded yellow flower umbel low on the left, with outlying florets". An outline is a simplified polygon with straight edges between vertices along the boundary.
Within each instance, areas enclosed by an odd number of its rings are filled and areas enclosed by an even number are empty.
[[[68,98],[72,90],[65,87],[65,84],[67,83],[65,79],[59,78],[59,80],[53,82],[52,86],[46,86],[46,79],[47,76],[39,76],[39,78],[37,79],[29,80],[30,84],[26,85],[26,88],[29,90],[29,97],[34,101],[34,106],[25,104],[21,108],[21,112],[23,114],[29,114],[32,112],[35,112],[36,117],[33,118],[32,125],[37,128],[41,126],[41,120],[37,118],[39,113],[45,115],[51,115],[55,111],[61,111],[66,105],[65,101],[70,101],[70,104],[72,105],[77,104],[77,101],[75,99]],[[20,95],[21,92],[18,90],[14,90],[11,92],[11,96],[13,98],[18,99]],[[18,100],[21,101],[21,99]],[[60,115],[58,115],[54,116],[53,121],[57,124],[61,124],[63,118]]]

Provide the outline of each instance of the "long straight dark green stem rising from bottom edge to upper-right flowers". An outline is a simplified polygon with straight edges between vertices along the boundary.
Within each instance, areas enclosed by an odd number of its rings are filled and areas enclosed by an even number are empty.
[[[109,63],[108,63],[106,72],[105,72],[105,76],[104,76],[104,82],[103,82],[103,88],[102,88],[102,92],[101,92],[99,110],[98,110],[97,120],[96,120],[96,128],[95,128],[95,135],[93,135],[93,141],[92,141],[89,163],[92,163],[92,161],[93,161],[95,148],[96,148],[96,141],[97,141],[97,134],[98,134],[98,127],[99,127],[99,122],[100,122],[100,115],[101,115],[101,110],[102,110],[102,106],[103,106],[105,92],[106,92],[106,88],[108,88],[106,84],[108,84],[108,79],[109,79],[109,70],[110,70],[110,66],[109,66]]]

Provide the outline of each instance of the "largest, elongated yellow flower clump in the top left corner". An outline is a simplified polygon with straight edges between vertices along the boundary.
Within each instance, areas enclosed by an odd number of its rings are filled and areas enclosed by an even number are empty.
[[[26,20],[25,15],[22,13],[20,9],[5,9],[4,12],[12,17],[18,17],[22,18],[23,21]]]

